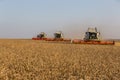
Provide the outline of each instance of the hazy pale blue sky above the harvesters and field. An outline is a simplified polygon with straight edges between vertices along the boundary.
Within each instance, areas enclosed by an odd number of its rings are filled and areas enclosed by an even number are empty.
[[[120,38],[119,0],[0,0],[0,38],[31,38],[39,32],[52,37],[82,38],[97,27],[105,38]]]

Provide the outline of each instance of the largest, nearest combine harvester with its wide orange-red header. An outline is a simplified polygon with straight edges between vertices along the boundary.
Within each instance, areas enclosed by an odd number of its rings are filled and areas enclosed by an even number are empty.
[[[114,45],[114,41],[104,41],[100,38],[100,32],[97,31],[97,28],[88,28],[85,33],[84,40],[74,39],[72,43],[75,44],[96,44],[96,45]]]

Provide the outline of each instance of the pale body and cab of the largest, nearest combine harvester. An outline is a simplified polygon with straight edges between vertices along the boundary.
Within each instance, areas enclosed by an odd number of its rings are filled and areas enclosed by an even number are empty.
[[[100,32],[97,31],[97,28],[88,28],[85,33],[85,41],[100,41]]]

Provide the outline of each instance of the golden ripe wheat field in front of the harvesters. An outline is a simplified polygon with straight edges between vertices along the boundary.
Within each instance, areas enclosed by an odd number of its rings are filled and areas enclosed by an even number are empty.
[[[120,46],[0,40],[0,80],[120,80]]]

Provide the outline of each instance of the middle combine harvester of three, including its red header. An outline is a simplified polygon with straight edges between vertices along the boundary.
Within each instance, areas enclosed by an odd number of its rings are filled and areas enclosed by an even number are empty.
[[[54,33],[54,38],[47,38],[46,41],[63,41],[63,42],[70,42],[71,39],[65,39],[63,36],[63,33],[61,31],[58,31]]]

